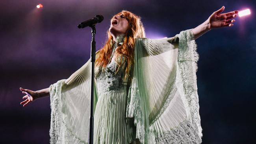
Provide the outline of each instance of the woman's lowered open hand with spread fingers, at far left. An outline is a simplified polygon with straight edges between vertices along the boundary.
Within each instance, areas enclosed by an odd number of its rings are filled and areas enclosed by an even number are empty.
[[[25,107],[28,103],[33,102],[35,99],[38,98],[38,94],[37,92],[33,91],[33,90],[29,90],[29,89],[22,89],[20,87],[20,91],[22,91],[23,94],[26,94],[26,96],[23,96],[23,102],[21,102],[20,104],[23,105],[23,107]]]

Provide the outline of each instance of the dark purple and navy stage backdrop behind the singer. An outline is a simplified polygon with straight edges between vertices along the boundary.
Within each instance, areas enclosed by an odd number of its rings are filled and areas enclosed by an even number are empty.
[[[36,9],[37,4],[43,9]],[[83,20],[104,15],[96,26],[99,50],[110,18],[126,9],[142,17],[147,37],[173,37],[195,28],[213,11],[250,8],[231,28],[211,30],[198,44],[197,84],[203,144],[255,141],[255,0],[4,0],[0,4],[0,143],[47,144],[50,98],[22,107],[19,87],[39,90],[68,78],[88,59],[91,30]]]

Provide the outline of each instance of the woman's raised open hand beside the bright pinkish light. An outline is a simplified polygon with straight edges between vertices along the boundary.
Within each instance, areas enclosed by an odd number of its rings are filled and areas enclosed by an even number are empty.
[[[231,11],[228,13],[222,13],[225,7],[221,7],[221,9],[213,12],[211,16],[208,18],[209,29],[213,28],[221,28],[226,26],[233,26],[236,20],[232,19],[237,16],[239,11]]]

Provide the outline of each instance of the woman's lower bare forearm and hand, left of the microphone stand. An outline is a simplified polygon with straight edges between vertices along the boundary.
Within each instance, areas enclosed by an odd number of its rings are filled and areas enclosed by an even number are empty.
[[[50,96],[50,88],[46,88],[46,89],[41,89],[41,90],[37,90],[37,91],[33,91],[33,90],[29,90],[29,89],[23,89],[20,87],[20,91],[22,91],[23,94],[26,94],[26,96],[23,96],[23,102],[21,102],[20,104],[23,105],[23,107],[25,107],[28,103],[33,102],[34,100],[36,100],[37,98],[43,98],[46,96]]]

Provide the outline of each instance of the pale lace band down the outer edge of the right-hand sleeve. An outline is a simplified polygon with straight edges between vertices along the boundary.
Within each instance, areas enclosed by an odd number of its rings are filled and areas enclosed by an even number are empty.
[[[202,137],[202,128],[200,126],[200,115],[199,115],[199,104],[198,104],[198,94],[197,94],[197,61],[199,59],[197,53],[197,44],[195,43],[194,34],[191,30],[183,31],[180,34],[181,39],[180,45],[183,48],[178,50],[178,65],[180,72],[180,79],[183,83],[183,92],[186,96],[191,119],[194,125],[198,127],[198,132],[200,139]]]

